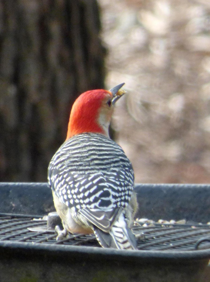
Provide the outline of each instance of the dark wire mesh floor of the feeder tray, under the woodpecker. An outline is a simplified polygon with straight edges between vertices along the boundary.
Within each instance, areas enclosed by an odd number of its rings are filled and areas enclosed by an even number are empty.
[[[29,229],[43,231],[30,231]],[[207,224],[153,224],[152,226],[134,226],[138,250],[189,251],[196,250],[198,242],[202,248],[210,248],[210,227]],[[0,214],[0,241],[63,244],[100,247],[95,235],[70,234],[69,238],[56,241],[57,233],[47,230],[45,220],[33,216],[5,216]],[[205,240],[202,241],[202,238]]]

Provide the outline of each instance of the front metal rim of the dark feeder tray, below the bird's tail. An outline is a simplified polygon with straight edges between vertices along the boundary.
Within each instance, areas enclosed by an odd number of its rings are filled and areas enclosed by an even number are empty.
[[[198,260],[198,259],[210,259],[210,249],[196,250],[196,251],[153,251],[153,250],[118,250],[113,248],[99,248],[91,246],[65,246],[65,245],[49,245],[44,243],[28,243],[28,242],[11,242],[0,241],[0,248],[5,250],[29,252],[36,251],[39,254],[55,255],[61,257],[84,257],[90,255],[91,257],[100,257],[101,259],[127,261],[135,260]]]

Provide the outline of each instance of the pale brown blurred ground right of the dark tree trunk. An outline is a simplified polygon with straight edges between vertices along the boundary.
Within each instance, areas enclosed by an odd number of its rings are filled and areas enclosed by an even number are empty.
[[[100,0],[106,85],[136,182],[210,182],[210,2]]]

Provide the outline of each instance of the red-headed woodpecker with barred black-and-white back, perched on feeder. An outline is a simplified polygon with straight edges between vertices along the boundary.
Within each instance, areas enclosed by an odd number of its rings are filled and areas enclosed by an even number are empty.
[[[138,208],[134,172],[123,149],[110,139],[121,83],[82,93],[73,103],[65,142],[48,166],[48,184],[62,220],[57,239],[68,232],[94,233],[104,248],[136,250],[131,231]]]

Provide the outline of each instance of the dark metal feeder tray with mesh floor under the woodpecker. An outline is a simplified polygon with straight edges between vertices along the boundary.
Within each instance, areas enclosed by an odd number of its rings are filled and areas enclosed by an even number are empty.
[[[94,235],[71,234],[56,241],[57,234],[42,219],[53,209],[47,184],[1,183],[0,281],[209,281],[210,225],[205,223],[210,186],[144,184],[135,189],[137,217],[155,213],[155,220],[170,216],[185,218],[186,224],[146,225],[137,220],[132,230],[138,250],[101,248]],[[200,211],[196,215],[195,201]],[[202,208],[207,211],[202,213]],[[178,217],[180,209],[184,213]]]

